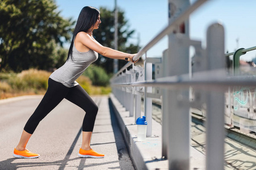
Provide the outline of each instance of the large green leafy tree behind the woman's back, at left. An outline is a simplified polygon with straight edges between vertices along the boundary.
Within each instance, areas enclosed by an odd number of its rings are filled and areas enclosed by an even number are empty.
[[[55,1],[0,3],[0,69],[46,70],[64,63],[67,52],[62,45],[71,39],[75,22],[60,16]]]

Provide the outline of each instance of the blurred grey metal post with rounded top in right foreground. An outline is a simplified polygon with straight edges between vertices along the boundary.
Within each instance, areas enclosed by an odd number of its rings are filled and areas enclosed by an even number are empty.
[[[207,30],[208,69],[221,69],[225,76],[224,27],[212,24]],[[215,72],[215,71],[214,71]],[[224,92],[209,92],[207,96],[207,169],[224,169]]]

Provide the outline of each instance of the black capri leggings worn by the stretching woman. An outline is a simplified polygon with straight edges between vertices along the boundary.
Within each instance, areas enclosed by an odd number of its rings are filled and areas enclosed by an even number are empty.
[[[78,105],[86,112],[82,122],[82,131],[93,131],[98,107],[87,92],[80,85],[69,88],[51,78],[48,80],[46,94],[35,112],[28,119],[24,130],[27,133],[33,134],[39,122],[64,98]]]

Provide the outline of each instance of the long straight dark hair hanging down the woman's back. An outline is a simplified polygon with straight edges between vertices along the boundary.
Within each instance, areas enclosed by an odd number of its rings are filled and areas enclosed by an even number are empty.
[[[94,24],[96,23],[98,19],[98,15],[100,14],[100,11],[97,8],[91,7],[91,6],[85,6],[82,8],[79,18],[77,19],[76,27],[73,32],[73,38],[71,41],[71,45],[68,50],[68,58],[71,57],[73,59],[72,55],[72,49],[74,45],[74,40],[77,35],[77,33],[83,31],[83,32],[88,32],[90,31],[89,29],[94,27]]]

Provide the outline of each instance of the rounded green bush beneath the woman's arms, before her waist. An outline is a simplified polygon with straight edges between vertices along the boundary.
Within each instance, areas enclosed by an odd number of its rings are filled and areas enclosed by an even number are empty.
[[[94,86],[106,87],[109,84],[109,75],[99,66],[90,65],[83,75],[88,76]]]

